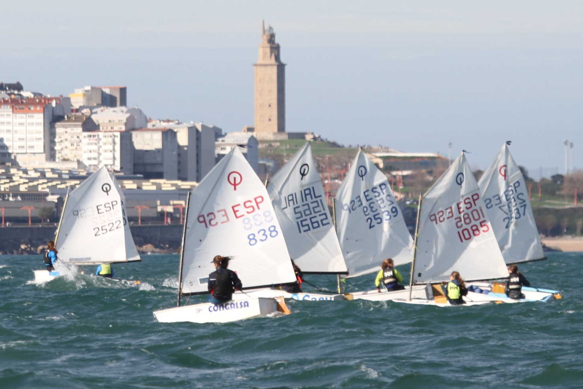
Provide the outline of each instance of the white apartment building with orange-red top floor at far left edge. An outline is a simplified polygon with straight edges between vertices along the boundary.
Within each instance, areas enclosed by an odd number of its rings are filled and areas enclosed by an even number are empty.
[[[51,157],[51,122],[70,112],[68,97],[0,99],[0,162],[43,166]]]

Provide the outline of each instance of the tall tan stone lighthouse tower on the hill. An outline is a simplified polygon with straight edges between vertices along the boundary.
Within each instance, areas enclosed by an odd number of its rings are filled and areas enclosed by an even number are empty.
[[[255,136],[272,139],[286,132],[286,72],[280,59],[275,32],[261,23],[261,44],[257,63],[253,65],[255,86]]]

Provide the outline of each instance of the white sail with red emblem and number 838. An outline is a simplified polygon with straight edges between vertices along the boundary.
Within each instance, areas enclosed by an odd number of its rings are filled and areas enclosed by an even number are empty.
[[[182,264],[182,293],[208,292],[215,255],[233,257],[243,288],[296,281],[265,186],[236,147],[192,192]]]

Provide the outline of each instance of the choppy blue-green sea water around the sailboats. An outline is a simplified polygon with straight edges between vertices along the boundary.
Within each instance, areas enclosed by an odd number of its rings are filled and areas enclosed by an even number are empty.
[[[40,256],[0,256],[0,388],[583,388],[583,253],[548,257],[520,270],[562,300],[291,301],[284,317],[162,324],[152,311],[175,306],[177,255],[114,265],[139,286],[89,275],[37,285]]]

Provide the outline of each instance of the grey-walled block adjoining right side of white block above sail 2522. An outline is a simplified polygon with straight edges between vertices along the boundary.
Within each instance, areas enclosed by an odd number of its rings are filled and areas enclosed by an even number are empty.
[[[134,174],[144,178],[178,178],[178,143],[171,128],[139,128],[132,131]]]

